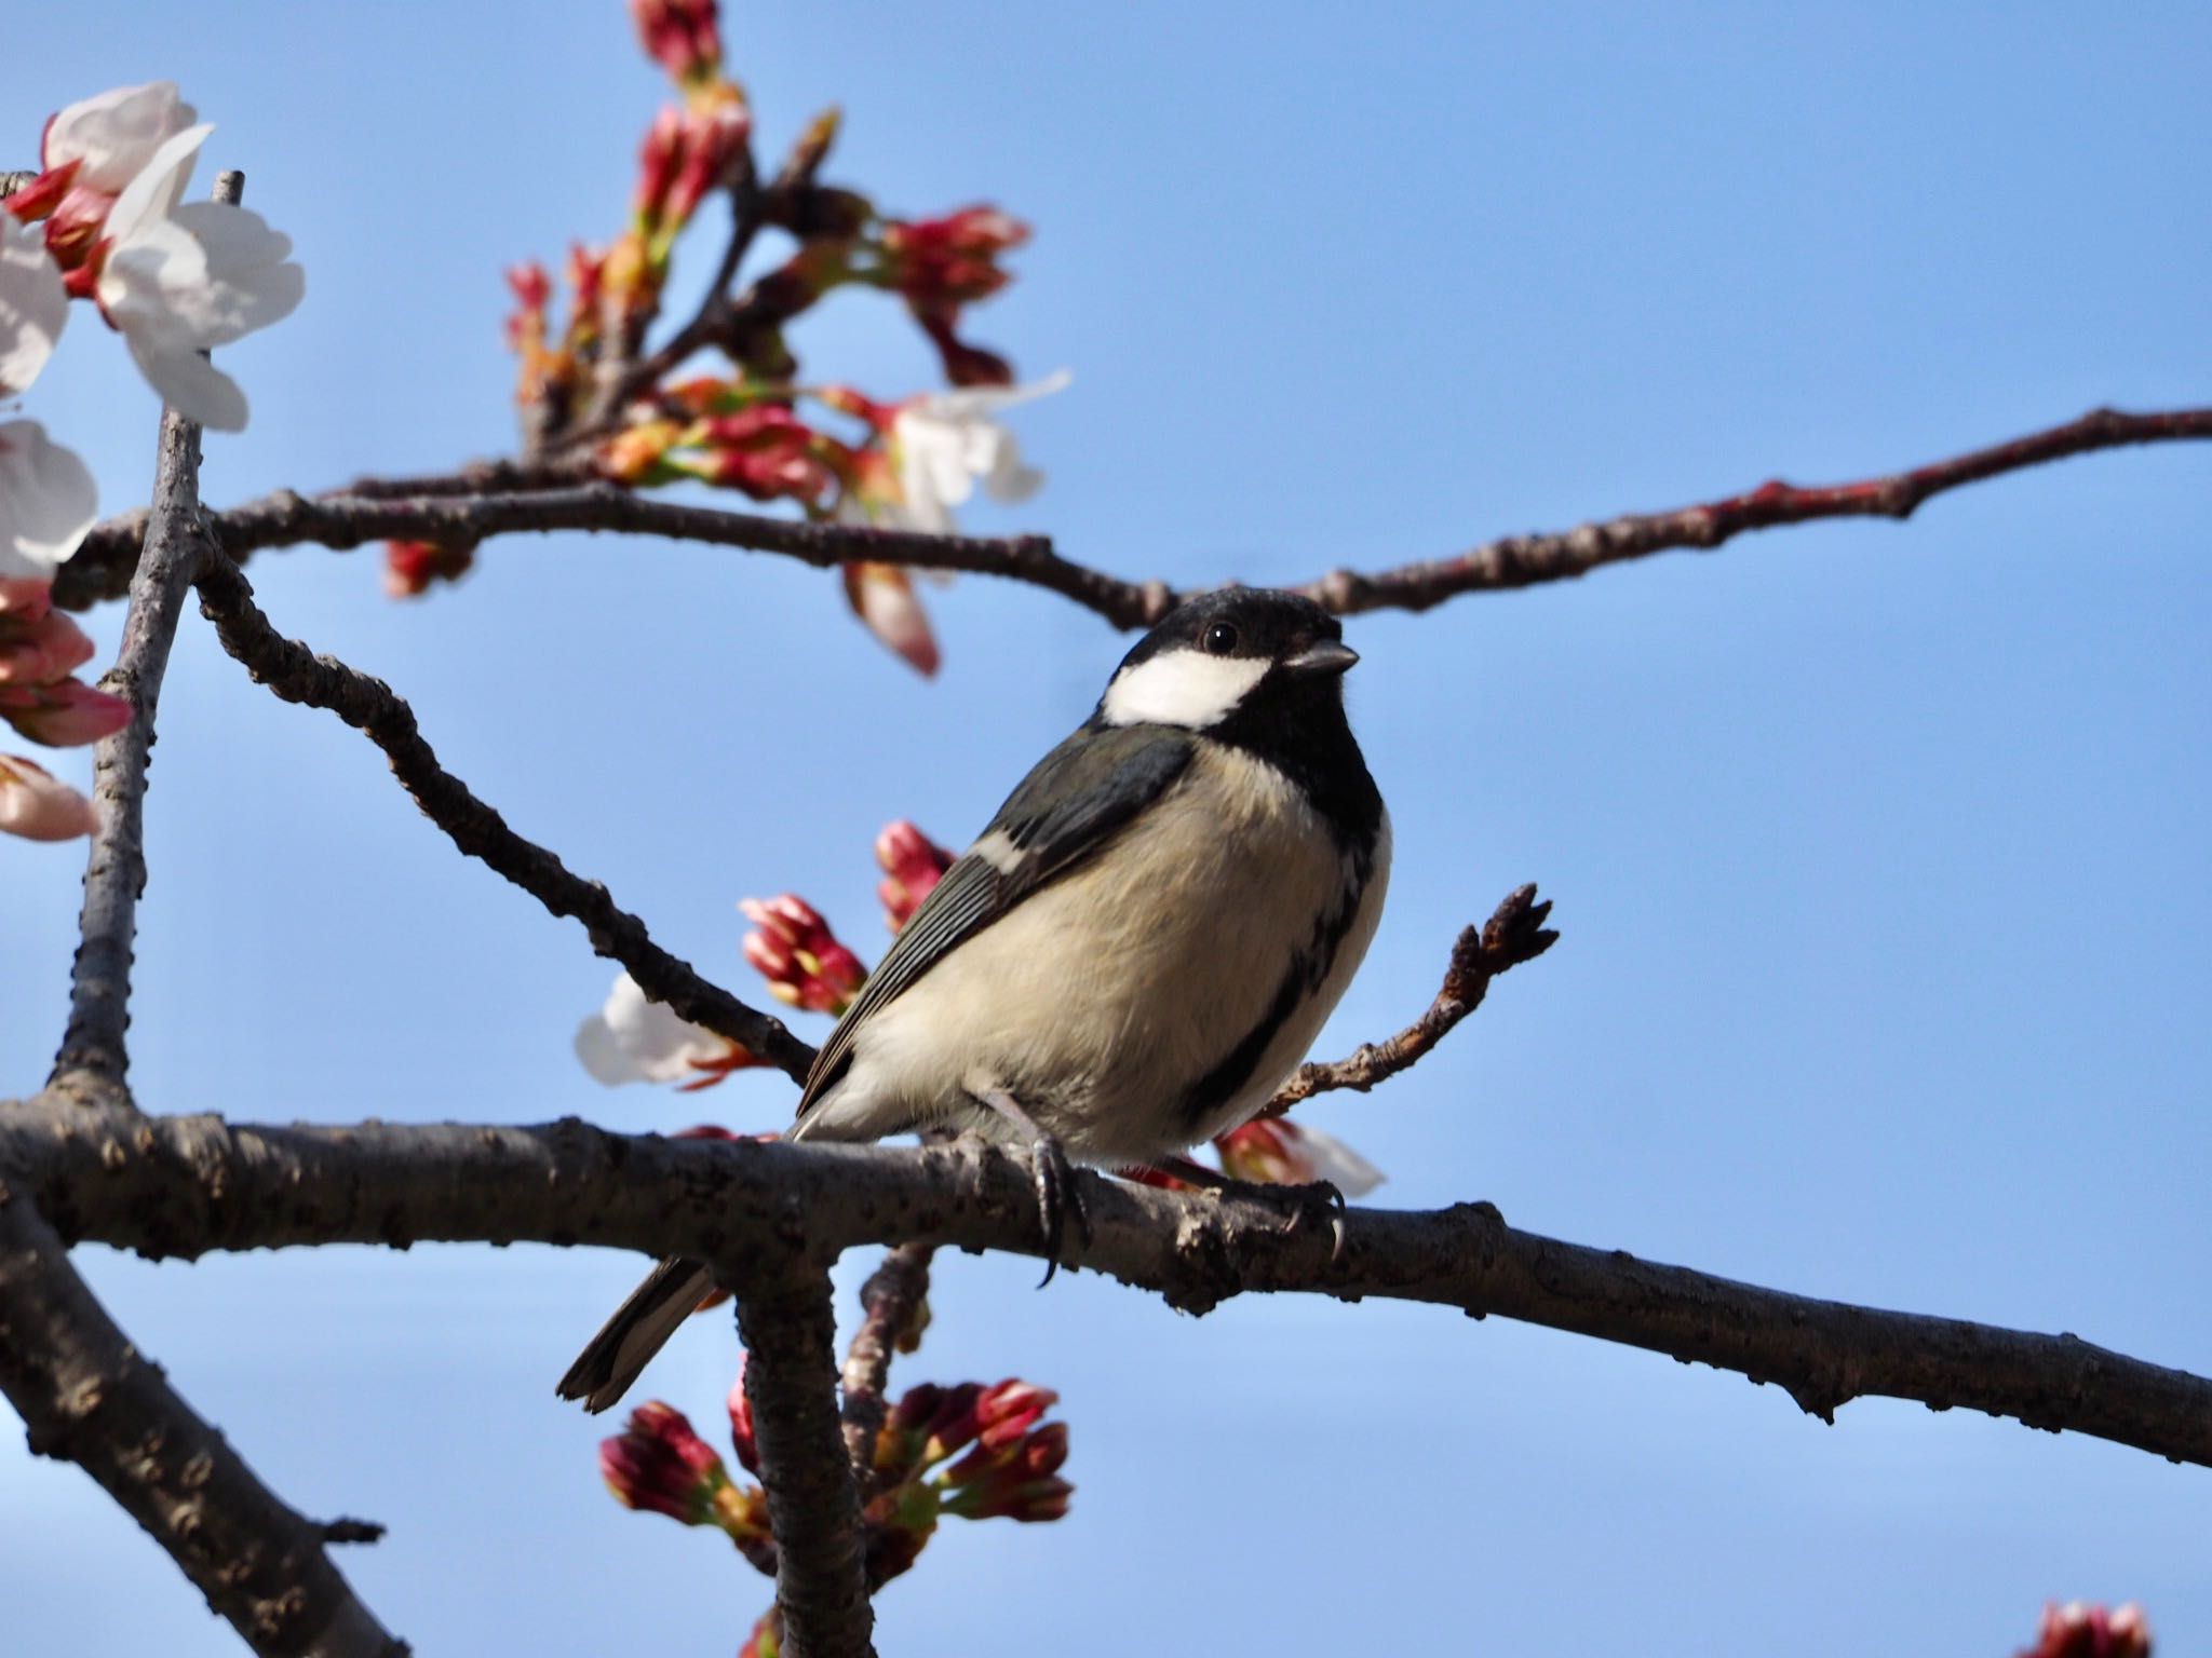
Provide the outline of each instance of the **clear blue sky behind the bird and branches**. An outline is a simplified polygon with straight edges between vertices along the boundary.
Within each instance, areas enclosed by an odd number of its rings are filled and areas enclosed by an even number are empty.
[[[1024,508],[1086,562],[1298,579],[1502,531],[1834,480],[2212,398],[2201,7],[1376,7],[964,0],[726,22],[770,146],[843,102],[834,172],[1037,225],[978,336]],[[307,303],[226,354],[226,502],[509,444],[500,270],[606,234],[661,95],[615,0],[86,4],[9,22],[0,111],[168,75],[290,230]],[[695,259],[692,279],[699,279]],[[927,385],[887,303],[801,336]],[[113,508],[155,405],[80,312],[29,413]],[[1376,953],[1323,1046],[1427,1001],[1522,880],[1564,942],[1427,1066],[1314,1121],[1378,1200],[1798,1291],[2068,1329],[2212,1371],[2212,451],[1352,626],[1398,822]],[[971,833],[1088,710],[1097,619],[964,579],[938,683],[821,575],[726,550],[493,546],[378,597],[372,555],[252,566],[270,615],[392,679],[453,769],[750,990],[745,893],[880,948],[869,838]],[[117,610],[93,619],[113,650]],[[84,756],[64,756],[84,776]],[[593,1085],[611,968],[456,858],[332,718],[188,619],[164,699],[135,1079],[241,1119],[714,1116],[792,1090]],[[80,853],[0,842],[0,1092],[60,1030]],[[553,1377],[639,1262],[551,1249],[84,1267],[296,1505],[392,1525],[345,1570],[418,1651],[728,1654],[768,1585],[602,1492]],[[847,1267],[854,1280],[863,1262]],[[1026,1260],[942,1262],[905,1379],[1020,1373],[1073,1421],[1062,1525],[949,1530],[887,1654],[2011,1654],[2046,1596],[2212,1647],[2212,1475],[1418,1307],[1192,1322]],[[847,1295],[849,1300],[849,1295]],[[648,1388],[712,1419],[734,1335]],[[77,1470],[0,1446],[20,1651],[228,1654]]]

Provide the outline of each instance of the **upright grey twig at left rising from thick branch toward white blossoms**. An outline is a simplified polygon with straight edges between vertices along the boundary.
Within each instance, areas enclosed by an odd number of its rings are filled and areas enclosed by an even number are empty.
[[[243,172],[215,181],[217,201],[246,195]],[[131,1063],[124,1030],[131,1026],[131,944],[137,937],[137,900],[146,891],[146,772],[153,765],[155,712],[161,674],[177,639],[184,595],[199,568],[206,535],[199,528],[199,422],[161,411],[155,447],[153,513],[131,577],[124,643],[100,685],[131,703],[131,723],[100,738],[93,749],[93,800],[100,827],[84,864],[84,909],[77,920],[77,959],[69,982],[69,1028],[53,1059],[55,1079],[69,1072],[122,1083]]]

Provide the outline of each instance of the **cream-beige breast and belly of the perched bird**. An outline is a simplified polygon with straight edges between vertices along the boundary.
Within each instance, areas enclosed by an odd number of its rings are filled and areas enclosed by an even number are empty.
[[[1279,772],[1203,743],[1175,785],[1088,867],[938,962],[854,1039],[854,1063],[805,1132],[878,1138],[971,1123],[1004,1088],[1088,1163],[1144,1163],[1245,1121],[1305,1057],[1374,940],[1389,825],[1336,959],[1252,1079],[1203,1121],[1183,1099],[1265,1017],[1318,915],[1349,902],[1349,860]],[[1152,882],[1133,902],[1128,871]],[[1075,953],[1066,944],[1088,940]]]

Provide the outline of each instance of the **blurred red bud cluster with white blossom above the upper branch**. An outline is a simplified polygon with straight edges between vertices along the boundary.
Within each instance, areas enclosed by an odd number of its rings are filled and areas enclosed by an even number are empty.
[[[626,230],[573,250],[564,323],[555,323],[553,279],[542,265],[509,272],[515,309],[507,338],[529,449],[588,458],[599,475],[633,489],[703,482],[757,502],[792,502],[812,520],[938,535],[956,528],[953,508],[975,484],[995,500],[1024,500],[1042,473],[1020,464],[1013,436],[993,416],[1035,389],[1011,389],[1006,358],[964,340],[960,327],[969,305],[1013,279],[1004,259],[1029,239],[1029,225],[984,203],[887,217],[867,195],[818,181],[841,124],[834,108],[763,179],[750,106],[723,66],[714,0],[630,0],[630,18],[681,102],[646,133]],[[686,354],[664,347],[648,356],[646,334],[661,312],[675,245],[717,192],[737,210],[732,281],[708,296],[679,343],[721,351],[730,371],[675,380]],[[781,265],[737,281],[743,241],[768,225],[796,245]],[[883,402],[799,385],[787,325],[847,285],[900,296],[958,391]],[[962,402],[967,396],[982,400]],[[825,429],[803,411],[810,398],[858,416],[860,429]],[[467,564],[467,550],[396,544],[385,581],[394,595],[416,595]],[[856,559],[843,566],[843,588],[883,643],[936,672],[938,643],[907,570]]]

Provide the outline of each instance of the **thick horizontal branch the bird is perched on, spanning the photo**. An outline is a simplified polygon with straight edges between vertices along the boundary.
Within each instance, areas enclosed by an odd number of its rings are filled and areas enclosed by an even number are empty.
[[[544,1127],[226,1127],[38,1103],[0,1112],[0,1163],[73,1240],[150,1256],[316,1242],[595,1242],[781,1258],[856,1245],[1037,1253],[1029,1169],[973,1138],[920,1150],[661,1141]],[[1272,1205],[1086,1183],[1079,1262],[1199,1313],[1245,1291],[1438,1302],[1776,1382],[1807,1410],[1885,1395],[2020,1417],[2212,1466],[2212,1382],[2090,1346],[1790,1295],[1515,1231],[1486,1203],[1352,1209],[1281,1229]]]

